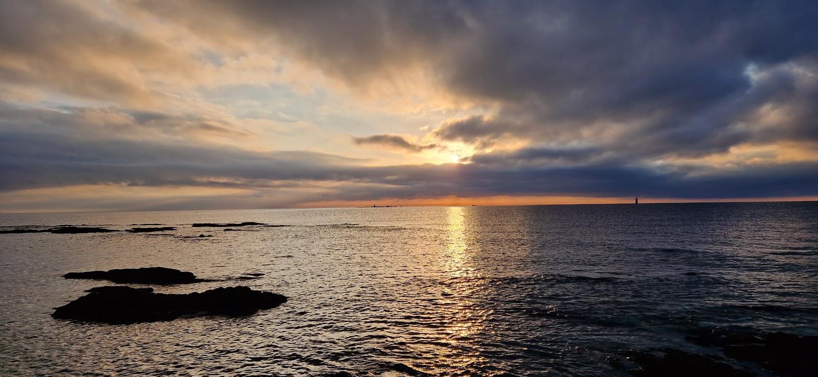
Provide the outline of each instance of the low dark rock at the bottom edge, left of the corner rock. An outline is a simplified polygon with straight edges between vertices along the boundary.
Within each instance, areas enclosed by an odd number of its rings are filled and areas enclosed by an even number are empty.
[[[744,377],[752,376],[745,370],[739,370],[721,361],[720,357],[707,357],[694,353],[685,353],[672,348],[654,352],[631,351],[624,357],[608,357],[608,362],[633,375],[645,376],[691,376],[719,375]]]

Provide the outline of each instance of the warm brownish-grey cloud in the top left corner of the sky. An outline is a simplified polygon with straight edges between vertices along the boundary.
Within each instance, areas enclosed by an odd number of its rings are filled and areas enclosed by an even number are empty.
[[[62,1],[0,3],[0,83],[134,106],[155,104],[151,73],[190,77],[168,42]]]

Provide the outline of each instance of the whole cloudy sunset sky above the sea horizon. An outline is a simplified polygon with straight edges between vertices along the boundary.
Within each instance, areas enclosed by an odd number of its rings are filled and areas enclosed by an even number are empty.
[[[816,200],[816,20],[0,0],[0,211]]]

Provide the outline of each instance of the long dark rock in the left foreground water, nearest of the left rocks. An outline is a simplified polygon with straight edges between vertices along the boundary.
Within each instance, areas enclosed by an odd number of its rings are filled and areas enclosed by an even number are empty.
[[[125,324],[169,321],[182,316],[246,316],[276,308],[287,298],[247,286],[216,288],[187,295],[153,293],[129,286],[97,287],[88,295],[56,308],[52,317]]]

